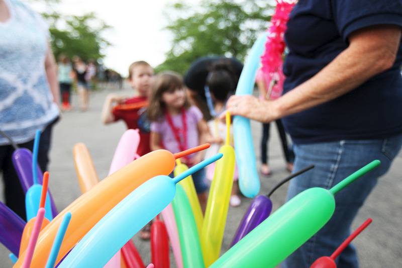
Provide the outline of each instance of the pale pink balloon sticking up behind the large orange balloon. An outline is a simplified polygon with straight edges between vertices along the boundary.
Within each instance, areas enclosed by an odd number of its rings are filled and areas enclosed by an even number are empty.
[[[117,145],[115,155],[109,169],[109,175],[116,172],[120,168],[131,163],[137,155],[138,145],[140,144],[140,134],[138,129],[128,129],[120,138]],[[121,266],[121,250],[106,263],[104,268],[120,268]]]

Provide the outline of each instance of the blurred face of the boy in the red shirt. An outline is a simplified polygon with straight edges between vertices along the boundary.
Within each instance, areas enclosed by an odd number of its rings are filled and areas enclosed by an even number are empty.
[[[154,70],[148,65],[138,65],[133,68],[130,85],[138,90],[140,96],[148,96],[151,91]]]

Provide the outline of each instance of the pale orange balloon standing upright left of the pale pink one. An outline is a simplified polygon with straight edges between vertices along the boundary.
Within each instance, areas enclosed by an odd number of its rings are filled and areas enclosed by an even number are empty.
[[[81,193],[88,192],[99,182],[91,155],[83,143],[74,145],[72,155]]]

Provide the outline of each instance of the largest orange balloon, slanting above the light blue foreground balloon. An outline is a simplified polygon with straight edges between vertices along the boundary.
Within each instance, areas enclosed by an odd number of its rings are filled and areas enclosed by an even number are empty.
[[[174,164],[175,157],[171,152],[153,151],[119,169],[82,194],[41,231],[32,259],[32,267],[45,267],[65,213],[71,213],[71,221],[61,243],[56,263],[127,195],[154,176],[170,174]],[[14,267],[22,266],[25,253],[22,253]]]

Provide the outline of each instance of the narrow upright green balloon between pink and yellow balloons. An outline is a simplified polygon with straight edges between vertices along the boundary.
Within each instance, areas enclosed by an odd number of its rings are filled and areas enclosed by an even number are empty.
[[[180,238],[183,267],[204,268],[203,253],[199,243],[197,225],[190,202],[181,185],[176,185],[176,195],[172,201],[177,231]]]

